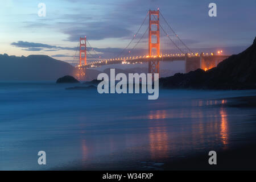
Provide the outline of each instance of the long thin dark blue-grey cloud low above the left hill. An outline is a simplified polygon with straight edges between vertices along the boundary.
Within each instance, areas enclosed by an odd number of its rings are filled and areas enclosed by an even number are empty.
[[[18,41],[11,43],[11,46],[25,48],[24,51],[59,51],[59,50],[71,50],[76,51],[76,47],[61,47],[61,46],[51,46],[49,44],[34,43],[34,42],[24,42]]]

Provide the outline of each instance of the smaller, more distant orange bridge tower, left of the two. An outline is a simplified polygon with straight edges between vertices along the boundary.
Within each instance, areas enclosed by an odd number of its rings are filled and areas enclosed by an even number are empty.
[[[86,36],[84,38],[80,37],[80,62],[79,62],[79,80],[84,80],[86,67],[82,68],[82,62],[86,65]]]

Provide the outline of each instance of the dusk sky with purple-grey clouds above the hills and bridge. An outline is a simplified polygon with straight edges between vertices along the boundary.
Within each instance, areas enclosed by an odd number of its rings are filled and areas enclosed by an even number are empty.
[[[38,4],[46,4],[46,17]],[[217,17],[208,5],[217,4]],[[72,60],[80,36],[102,52],[118,52],[133,38],[149,9],[163,16],[189,48],[249,46],[256,36],[255,0],[6,0],[0,6],[0,53]],[[105,49],[108,48],[108,49]]]

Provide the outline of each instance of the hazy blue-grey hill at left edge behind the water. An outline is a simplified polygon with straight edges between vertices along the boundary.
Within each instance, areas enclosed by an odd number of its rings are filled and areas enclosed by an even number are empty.
[[[72,65],[45,55],[0,55],[0,81],[56,81],[74,72]]]

